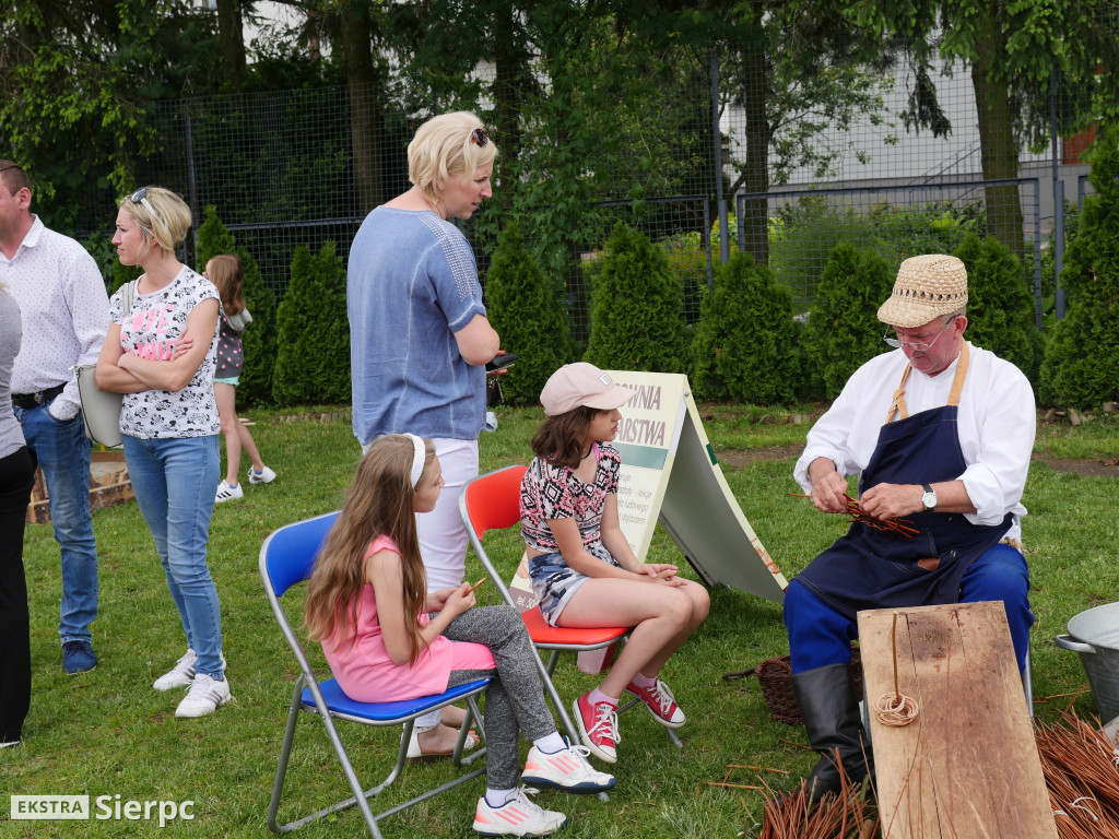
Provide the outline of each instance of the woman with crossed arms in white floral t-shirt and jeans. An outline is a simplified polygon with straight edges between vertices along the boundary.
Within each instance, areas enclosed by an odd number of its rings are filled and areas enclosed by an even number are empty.
[[[217,590],[206,565],[219,461],[220,303],[217,289],[176,258],[189,229],[190,210],[175,192],[148,187],[121,201],[113,244],[122,264],[144,273],[131,294],[122,287],[110,301],[96,374],[98,388],[124,394],[129,477],[187,635],[187,653],[153,686],[190,686],[177,717],[209,714],[232,699]]]

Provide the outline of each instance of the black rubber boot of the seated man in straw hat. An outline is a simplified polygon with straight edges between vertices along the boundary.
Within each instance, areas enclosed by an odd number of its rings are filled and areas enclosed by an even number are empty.
[[[858,784],[873,771],[871,742],[863,730],[849,664],[828,664],[793,673],[792,689],[805,717],[808,742],[820,760],[805,779],[812,801],[839,792],[836,753],[847,779]]]

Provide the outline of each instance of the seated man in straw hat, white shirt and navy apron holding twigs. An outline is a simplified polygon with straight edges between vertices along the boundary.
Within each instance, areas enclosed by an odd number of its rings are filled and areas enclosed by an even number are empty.
[[[864,609],[1000,600],[1025,667],[1033,623],[1021,553],[1022,491],[1034,443],[1034,396],[1022,371],[963,340],[968,277],[953,256],[905,260],[878,309],[885,352],[863,365],[808,434],[794,477],[824,512],[846,508],[846,475],[875,519],[820,554],[786,591],[792,684],[821,754],[806,783],[818,799],[871,766],[848,675]]]

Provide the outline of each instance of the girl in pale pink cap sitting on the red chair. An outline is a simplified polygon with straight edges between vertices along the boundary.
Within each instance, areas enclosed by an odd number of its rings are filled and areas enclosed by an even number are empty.
[[[640,698],[661,725],[679,728],[684,711],[660,669],[707,616],[707,590],[675,565],[642,563],[618,519],[621,455],[610,445],[622,405],[634,392],[589,364],[561,367],[544,385],[548,415],[533,437],[536,458],[520,484],[520,532],[533,591],[553,626],[632,626],[598,688],[574,703],[583,744],[618,760],[618,701]]]

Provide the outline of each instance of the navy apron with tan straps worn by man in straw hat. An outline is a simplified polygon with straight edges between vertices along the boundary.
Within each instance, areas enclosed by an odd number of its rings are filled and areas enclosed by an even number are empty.
[[[912,416],[905,415],[902,396],[910,374],[905,368],[886,424],[863,470],[861,494],[878,483],[937,483],[963,473],[967,463],[956,423],[967,367],[965,342],[948,404]],[[891,422],[895,409],[902,418]],[[998,544],[1010,528],[1013,515],[1007,513],[998,525],[972,525],[961,512],[935,510],[918,512],[908,520],[919,530],[913,538],[853,524],[846,536],[797,576],[797,582],[850,619],[863,609],[956,603],[965,572]]]

